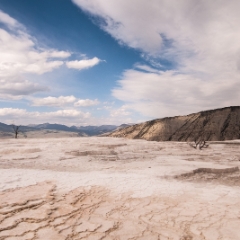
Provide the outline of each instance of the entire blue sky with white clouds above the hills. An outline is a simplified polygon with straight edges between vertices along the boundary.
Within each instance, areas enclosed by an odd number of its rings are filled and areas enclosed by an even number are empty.
[[[240,105],[239,0],[0,0],[0,122],[120,125]]]

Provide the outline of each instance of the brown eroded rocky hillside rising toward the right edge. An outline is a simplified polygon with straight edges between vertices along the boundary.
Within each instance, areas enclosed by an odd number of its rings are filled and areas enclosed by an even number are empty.
[[[136,124],[108,136],[149,141],[223,141],[240,138],[240,106]]]

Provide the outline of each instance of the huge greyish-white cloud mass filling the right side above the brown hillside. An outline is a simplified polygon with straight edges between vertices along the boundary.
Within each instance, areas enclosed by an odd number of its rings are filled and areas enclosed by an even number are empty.
[[[162,117],[239,105],[240,1],[72,1],[158,68],[123,73],[113,95],[129,108]]]

